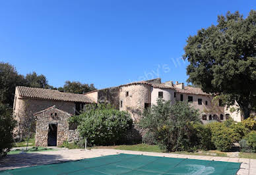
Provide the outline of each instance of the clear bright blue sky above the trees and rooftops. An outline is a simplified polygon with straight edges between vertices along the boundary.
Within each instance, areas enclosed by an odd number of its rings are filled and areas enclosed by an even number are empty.
[[[216,24],[218,14],[251,9],[256,1],[0,1],[0,61],[44,74],[55,87],[185,82],[187,37]]]

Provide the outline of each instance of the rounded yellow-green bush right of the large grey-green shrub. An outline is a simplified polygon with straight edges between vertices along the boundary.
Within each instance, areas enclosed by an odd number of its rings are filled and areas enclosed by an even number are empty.
[[[236,133],[224,123],[212,122],[208,124],[212,133],[212,143],[219,151],[229,151],[235,141]]]

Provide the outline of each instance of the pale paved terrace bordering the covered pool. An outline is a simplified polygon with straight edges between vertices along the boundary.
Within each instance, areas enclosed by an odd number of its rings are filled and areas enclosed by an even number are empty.
[[[242,159],[233,157],[211,157],[200,155],[179,155],[172,153],[150,153],[144,151],[126,151],[119,149],[92,149],[85,151],[84,149],[60,149],[59,151],[44,151],[38,153],[27,153],[8,155],[0,160],[0,170],[8,170],[13,168],[22,168],[28,166],[36,166],[39,164],[51,164],[63,161],[76,161],[79,159],[88,159],[105,155],[116,155],[119,153],[134,154],[134,155],[150,155],[159,157],[174,157],[187,159],[201,159],[207,161],[226,161],[226,162],[241,162],[241,168],[238,174],[256,174],[256,159]]]

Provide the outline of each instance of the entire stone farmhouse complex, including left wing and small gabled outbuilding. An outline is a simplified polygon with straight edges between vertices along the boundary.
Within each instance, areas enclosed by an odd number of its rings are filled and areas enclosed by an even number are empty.
[[[64,93],[53,89],[28,88],[17,86],[15,91],[14,115],[18,121],[16,133],[22,134],[22,121],[36,120],[36,145],[61,145],[63,141],[79,139],[79,133],[67,122],[70,116],[79,114],[85,104],[110,103],[116,109],[128,111],[135,122],[140,113],[158,98],[165,101],[189,101],[201,112],[205,124],[214,120],[224,121],[229,117],[241,121],[240,112],[230,110],[217,101],[212,103],[213,95],[200,88],[184,86],[172,81],[161,82],[160,78],[132,82],[112,88],[98,89],[85,94]]]

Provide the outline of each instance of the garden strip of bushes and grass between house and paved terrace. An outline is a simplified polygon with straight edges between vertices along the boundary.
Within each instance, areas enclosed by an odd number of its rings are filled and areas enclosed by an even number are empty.
[[[88,146],[93,148],[223,157],[227,157],[228,152],[240,151],[239,157],[256,158],[255,116],[242,122],[229,119],[202,124],[199,115],[199,111],[187,102],[177,101],[170,105],[170,101],[158,99],[157,105],[146,109],[140,122],[135,124],[144,134],[141,141],[132,144],[127,140],[127,133],[134,125],[129,113],[110,105],[94,106],[79,116],[73,116],[69,122],[78,125],[80,136],[87,138]],[[63,146],[81,148],[84,140],[65,142]]]

